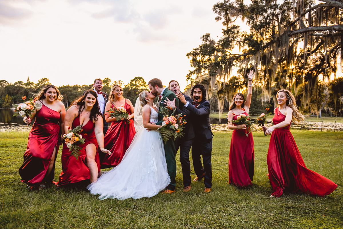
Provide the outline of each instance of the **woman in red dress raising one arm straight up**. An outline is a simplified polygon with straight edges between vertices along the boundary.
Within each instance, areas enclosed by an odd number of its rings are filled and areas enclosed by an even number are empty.
[[[253,71],[250,71],[248,74],[249,84],[247,100],[245,100],[242,93],[236,93],[230,104],[227,117],[228,128],[234,130],[232,132],[229,153],[229,184],[232,183],[239,187],[252,185],[255,158],[254,140],[245,124],[233,125],[231,121],[236,120],[237,116],[241,114],[249,115],[253,76]]]

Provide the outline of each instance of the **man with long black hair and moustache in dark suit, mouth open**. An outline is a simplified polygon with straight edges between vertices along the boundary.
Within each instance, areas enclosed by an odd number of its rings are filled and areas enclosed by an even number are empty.
[[[196,84],[191,91],[191,102],[187,101],[185,96],[178,92],[177,98],[191,112],[190,117],[193,123],[195,138],[192,144],[192,158],[194,171],[197,178],[193,181],[200,181],[202,178],[205,183],[205,193],[211,192],[212,189],[212,130],[210,126],[211,105],[206,100],[206,89],[202,84]],[[201,164],[201,158],[204,168]]]

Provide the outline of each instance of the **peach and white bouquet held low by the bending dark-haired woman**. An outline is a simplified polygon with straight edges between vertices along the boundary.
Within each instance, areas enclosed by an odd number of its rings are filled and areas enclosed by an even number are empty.
[[[71,129],[68,126],[68,134],[63,135],[64,142],[66,142],[67,147],[71,151],[71,154],[76,158],[79,159],[81,154],[80,149],[82,149],[79,145],[85,143],[85,139],[82,138],[80,134],[83,131],[82,126],[76,126],[74,129]]]

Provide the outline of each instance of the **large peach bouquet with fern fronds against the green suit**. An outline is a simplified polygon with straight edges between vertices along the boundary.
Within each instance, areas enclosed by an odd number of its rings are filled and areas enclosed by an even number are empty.
[[[184,117],[182,114],[174,116],[173,112],[169,115],[169,108],[167,107],[162,108],[160,113],[164,115],[164,117],[162,126],[159,127],[158,130],[159,133],[161,133],[164,143],[166,143],[170,138],[173,138],[175,141],[177,138],[184,136],[182,132],[185,129],[186,120],[182,119],[182,117]]]

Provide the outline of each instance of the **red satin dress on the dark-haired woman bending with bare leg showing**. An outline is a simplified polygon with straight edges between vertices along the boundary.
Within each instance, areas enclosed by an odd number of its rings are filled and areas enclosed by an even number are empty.
[[[72,128],[74,129],[76,126],[80,126],[80,116],[76,117],[73,121]],[[81,133],[82,138],[85,139],[85,143],[81,145],[82,149],[80,150],[81,154],[79,159],[76,159],[69,148],[67,147],[66,143],[63,144],[62,150],[62,172],[60,174],[60,178],[58,181],[58,186],[70,183],[76,183],[83,180],[87,180],[91,178],[91,174],[89,168],[87,166],[87,158],[86,158],[86,146],[88,144],[94,144],[96,149],[98,148],[98,142],[96,141],[95,133],[94,133],[94,123],[89,120],[86,125],[82,127],[83,131]],[[98,165],[98,173],[100,173],[100,160],[99,154],[96,152],[95,154],[95,162]]]

